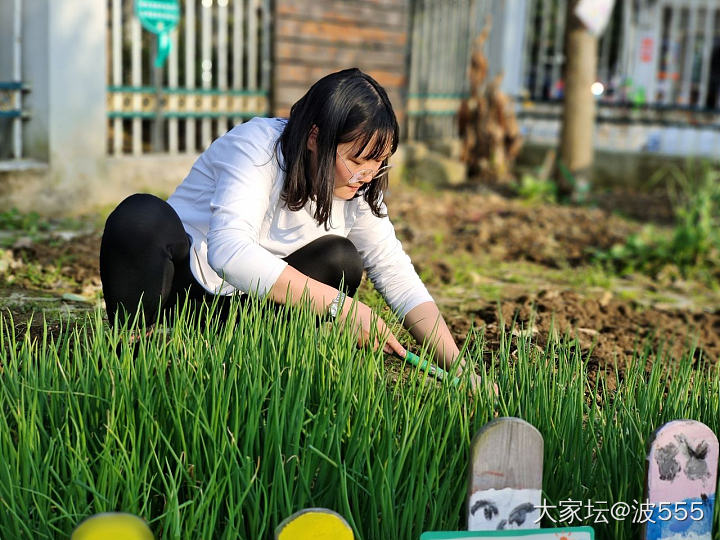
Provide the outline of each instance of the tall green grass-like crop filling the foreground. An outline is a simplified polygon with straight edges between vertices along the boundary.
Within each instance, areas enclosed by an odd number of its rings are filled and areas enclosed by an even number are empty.
[[[469,444],[495,415],[544,436],[552,504],[640,500],[655,428],[719,427],[718,370],[693,364],[693,351],[669,363],[639,349],[610,388],[602,373],[588,380],[572,340],[538,350],[508,328],[478,366],[498,382],[495,402],[419,372],[390,383],[382,354],[356,349],[349,333],[316,328],[307,310],[258,310],[248,304],[224,327],[181,316],[140,339],[135,359],[127,332],[108,330],[100,312],[37,339],[2,319],[3,537],[67,537],[117,510],[156,537],[268,538],[291,513],[322,506],[357,538],[417,539],[462,527]],[[481,358],[482,334],[466,347]],[[638,526],[610,520],[596,534],[636,538]]]

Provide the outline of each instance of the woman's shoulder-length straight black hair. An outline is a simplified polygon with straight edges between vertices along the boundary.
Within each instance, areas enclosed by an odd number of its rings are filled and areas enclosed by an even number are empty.
[[[310,166],[307,148],[310,132],[317,126],[317,171]],[[335,188],[336,149],[352,142],[356,158],[379,160],[397,150],[399,128],[387,93],[375,79],[357,68],[326,75],[317,81],[290,109],[290,117],[278,139],[284,158],[285,184],[282,198],[288,209],[297,211],[314,201],[313,217],[328,227]],[[387,165],[387,158],[382,166]],[[358,195],[373,214],[384,217],[381,197],[387,175],[365,184]],[[356,195],[356,196],[358,196]]]

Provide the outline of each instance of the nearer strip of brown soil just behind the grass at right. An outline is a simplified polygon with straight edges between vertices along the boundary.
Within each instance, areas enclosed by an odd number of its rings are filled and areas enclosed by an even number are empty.
[[[720,310],[691,313],[648,308],[634,302],[584,297],[573,291],[543,290],[468,313],[451,316],[455,335],[467,334],[470,320],[485,326],[490,348],[500,343],[500,329],[514,323],[516,335],[527,334],[541,347],[548,339],[566,334],[576,340],[583,356],[603,364],[622,365],[641,354],[646,345],[662,348],[668,358],[678,359],[689,350],[711,362],[720,357]]]

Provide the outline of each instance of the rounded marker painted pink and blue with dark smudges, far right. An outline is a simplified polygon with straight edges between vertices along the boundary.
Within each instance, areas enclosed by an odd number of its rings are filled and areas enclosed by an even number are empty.
[[[652,514],[645,539],[711,540],[717,468],[718,440],[705,424],[675,420],[655,431],[648,454]]]

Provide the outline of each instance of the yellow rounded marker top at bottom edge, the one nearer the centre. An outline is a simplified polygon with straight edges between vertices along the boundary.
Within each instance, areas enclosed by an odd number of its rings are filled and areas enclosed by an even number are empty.
[[[353,540],[347,521],[327,508],[295,512],[275,529],[275,540]]]

